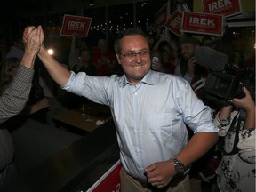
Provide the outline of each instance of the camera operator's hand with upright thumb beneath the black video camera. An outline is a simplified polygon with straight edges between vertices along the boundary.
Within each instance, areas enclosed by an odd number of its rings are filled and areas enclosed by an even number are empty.
[[[235,98],[233,100],[234,106],[237,108],[244,108],[246,112],[254,110],[254,101],[252,100],[251,94],[246,87],[243,87],[245,97],[242,99]]]

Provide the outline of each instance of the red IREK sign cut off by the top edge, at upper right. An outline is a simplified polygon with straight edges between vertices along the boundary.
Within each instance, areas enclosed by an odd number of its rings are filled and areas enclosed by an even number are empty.
[[[225,17],[242,12],[240,0],[203,0],[203,10]]]

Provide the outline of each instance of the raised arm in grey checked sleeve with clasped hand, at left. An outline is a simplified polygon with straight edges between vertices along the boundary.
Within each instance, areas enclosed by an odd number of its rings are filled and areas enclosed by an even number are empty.
[[[17,115],[27,103],[34,75],[36,54],[43,44],[44,34],[41,26],[26,30],[25,52],[16,76],[0,96],[0,123]],[[24,31],[25,33],[25,31]]]

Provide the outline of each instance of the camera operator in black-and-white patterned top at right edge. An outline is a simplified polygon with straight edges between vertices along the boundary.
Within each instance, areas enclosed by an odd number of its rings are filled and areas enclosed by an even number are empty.
[[[221,192],[255,191],[255,101],[246,87],[243,91],[244,98],[231,100],[214,119],[224,137],[216,171]]]

